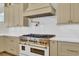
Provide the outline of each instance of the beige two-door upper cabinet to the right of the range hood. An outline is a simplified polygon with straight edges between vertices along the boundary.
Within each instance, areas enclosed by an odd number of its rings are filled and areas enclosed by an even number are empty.
[[[56,8],[57,24],[79,23],[79,3],[59,3]]]

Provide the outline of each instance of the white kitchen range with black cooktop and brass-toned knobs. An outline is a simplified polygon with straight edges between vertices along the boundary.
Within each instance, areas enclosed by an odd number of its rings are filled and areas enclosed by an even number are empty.
[[[25,56],[49,56],[49,38],[55,35],[28,34],[20,36],[20,53]]]

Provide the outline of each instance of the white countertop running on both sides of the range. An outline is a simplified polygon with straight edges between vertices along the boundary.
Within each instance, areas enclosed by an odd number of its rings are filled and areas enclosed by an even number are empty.
[[[23,34],[0,34],[0,36],[15,36],[15,37],[19,37]],[[78,37],[53,37],[50,38],[50,40],[56,40],[56,41],[67,41],[67,42],[79,42],[79,38]]]

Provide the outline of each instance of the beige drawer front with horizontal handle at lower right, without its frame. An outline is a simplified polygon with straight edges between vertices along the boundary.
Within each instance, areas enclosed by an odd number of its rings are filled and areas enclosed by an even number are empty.
[[[63,42],[61,48],[62,55],[66,56],[78,56],[79,55],[79,44],[78,43],[69,43]]]

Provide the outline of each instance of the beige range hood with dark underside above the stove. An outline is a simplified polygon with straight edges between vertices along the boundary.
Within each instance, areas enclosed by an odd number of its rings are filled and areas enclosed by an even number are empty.
[[[43,17],[43,16],[53,16],[53,15],[55,15],[56,10],[49,3],[45,4],[46,6],[45,5],[41,5],[41,7],[38,6],[38,8],[36,8],[36,9],[33,9],[32,5],[33,4],[28,6],[27,10],[24,12],[24,16],[27,16],[29,18],[34,18],[34,17]]]

